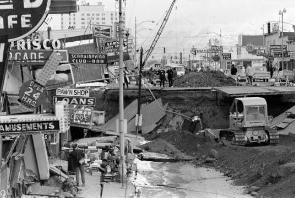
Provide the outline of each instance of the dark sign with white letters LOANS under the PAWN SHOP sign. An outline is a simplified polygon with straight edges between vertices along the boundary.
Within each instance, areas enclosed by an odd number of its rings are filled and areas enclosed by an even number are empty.
[[[66,101],[68,105],[90,105],[95,106],[95,98],[92,97],[70,97],[70,96],[53,96],[53,102]]]

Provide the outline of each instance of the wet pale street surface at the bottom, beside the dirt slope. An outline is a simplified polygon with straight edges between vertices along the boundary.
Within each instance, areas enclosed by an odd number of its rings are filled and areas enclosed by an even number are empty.
[[[187,163],[137,161],[134,181],[140,198],[251,198],[229,177]]]

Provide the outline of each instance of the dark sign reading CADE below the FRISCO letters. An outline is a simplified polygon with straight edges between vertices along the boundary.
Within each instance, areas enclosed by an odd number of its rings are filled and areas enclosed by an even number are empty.
[[[44,65],[52,52],[52,50],[11,50],[9,51],[9,60],[27,65]],[[58,57],[62,57],[61,63],[68,62],[67,50],[54,52]]]

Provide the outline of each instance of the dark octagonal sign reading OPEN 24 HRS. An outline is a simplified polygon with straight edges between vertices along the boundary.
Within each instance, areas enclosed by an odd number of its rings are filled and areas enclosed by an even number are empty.
[[[45,101],[47,90],[36,81],[29,80],[21,86],[19,95],[22,103],[28,107],[37,107]]]

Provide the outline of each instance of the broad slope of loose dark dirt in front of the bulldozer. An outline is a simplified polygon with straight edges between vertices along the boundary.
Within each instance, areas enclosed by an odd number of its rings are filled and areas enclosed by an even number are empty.
[[[203,134],[174,130],[146,135],[163,139],[181,152],[193,156],[194,164],[214,167],[232,177],[236,185],[261,188],[259,197],[295,197],[295,136],[280,136],[278,146],[235,146],[204,141]],[[161,150],[158,150],[161,152]]]

